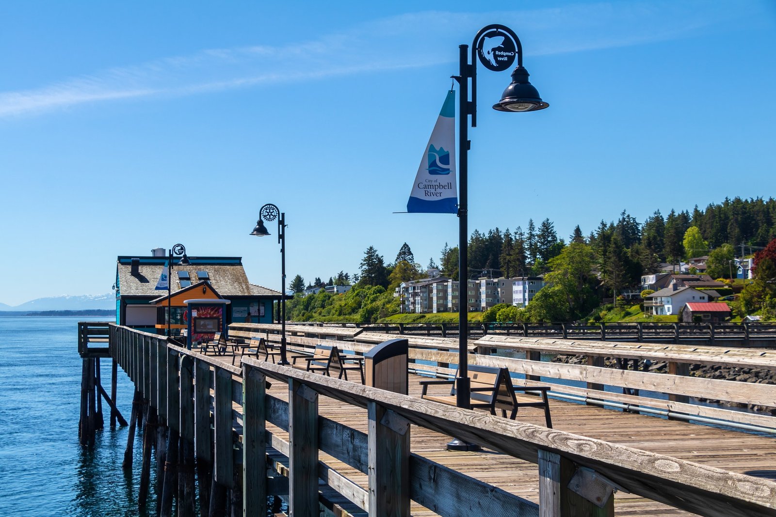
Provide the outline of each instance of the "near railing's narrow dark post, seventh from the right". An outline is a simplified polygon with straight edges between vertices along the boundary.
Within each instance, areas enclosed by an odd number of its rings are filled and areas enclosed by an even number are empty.
[[[181,517],[194,515],[194,360],[180,358],[180,467],[178,468],[178,512]]]

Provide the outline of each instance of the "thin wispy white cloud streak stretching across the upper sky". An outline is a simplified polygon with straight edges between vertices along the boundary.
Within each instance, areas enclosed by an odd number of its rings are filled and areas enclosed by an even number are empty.
[[[461,35],[473,36],[493,20],[512,26],[524,43],[529,38],[532,55],[547,55],[688,37],[709,26],[751,19],[756,9],[752,4],[708,2],[601,2],[521,12],[409,13],[305,43],[203,50],[41,88],[0,92],[0,119],[94,102],[196,95],[439,64],[456,60]]]

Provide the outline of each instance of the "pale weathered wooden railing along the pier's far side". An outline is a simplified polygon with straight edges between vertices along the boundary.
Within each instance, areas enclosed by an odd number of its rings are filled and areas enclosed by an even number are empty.
[[[237,324],[230,326],[234,336],[267,336],[278,341],[274,327],[262,324]],[[317,329],[317,330],[314,330]],[[324,339],[331,330],[326,327],[287,326],[287,332],[301,333],[307,337],[289,335],[289,346],[312,347]],[[348,329],[355,330],[355,329]],[[316,336],[315,332],[320,332]],[[348,350],[364,353],[376,343],[391,339],[395,334],[363,332],[352,342],[341,345]],[[452,377],[458,361],[458,339],[405,336],[409,340],[413,371]],[[698,403],[698,399],[712,399],[730,405],[776,406],[776,388],[773,384],[728,381],[691,377],[691,365],[717,365],[776,371],[776,351],[760,349],[736,349],[718,346],[661,345],[656,343],[624,343],[613,341],[568,340],[541,337],[518,337],[490,334],[469,341],[472,355],[469,363],[491,367],[505,367],[513,374],[525,376],[526,384],[549,384],[551,395],[575,402],[603,405],[638,411],[644,414],[668,416],[695,422],[729,424],[743,429],[776,434],[776,416],[767,413],[743,412],[732,408],[715,407]],[[504,357],[504,352],[525,352],[526,359]],[[541,353],[581,355],[586,364],[559,364],[541,361]],[[514,355],[514,354],[512,354]],[[605,359],[615,360],[617,367],[605,367]],[[650,363],[665,362],[665,373],[633,369],[632,361],[641,361],[643,367]],[[647,363],[646,361],[650,361]],[[452,364],[452,367],[450,366]],[[630,368],[630,369],[629,369]],[[539,380],[541,379],[541,383]],[[576,381],[569,385],[566,381]],[[619,391],[606,391],[614,386]],[[660,392],[665,398],[645,396],[644,391]]]

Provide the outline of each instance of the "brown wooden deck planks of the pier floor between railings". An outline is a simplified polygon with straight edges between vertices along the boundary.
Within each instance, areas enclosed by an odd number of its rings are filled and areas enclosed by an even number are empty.
[[[213,359],[213,356],[208,357]],[[232,357],[227,355],[217,357],[217,359],[223,361],[224,364],[231,364]],[[420,398],[421,386],[418,383],[427,378],[410,374],[410,395]],[[288,401],[288,388],[282,382],[272,382],[272,388],[267,390],[267,394]],[[341,402],[326,397],[320,397],[318,404],[320,415],[353,429],[358,429],[363,433],[367,432],[366,409],[343,405]],[[771,480],[776,479],[776,470],[774,470],[776,439],[772,437],[756,436],[750,433],[677,420],[660,419],[648,415],[617,412],[556,399],[550,400],[550,408],[553,414],[554,429],[665,454],[723,470],[752,476],[764,475]],[[517,419],[521,422],[542,426],[544,411],[542,408],[520,408]],[[282,429],[269,423],[267,429],[272,433],[277,433],[282,439],[288,439],[288,433]],[[539,468],[536,464],[490,450],[480,452],[448,451],[445,450],[445,444],[449,440],[449,436],[412,426],[411,452],[459,470],[480,481],[494,484],[511,494],[539,502]],[[340,474],[348,477],[355,484],[367,489],[366,474],[325,453],[320,453],[320,460],[330,465],[334,470],[338,470]],[[411,515],[430,517],[437,514],[413,502]],[[617,492],[615,494],[615,515],[662,517],[695,514],[671,508],[638,495]]]

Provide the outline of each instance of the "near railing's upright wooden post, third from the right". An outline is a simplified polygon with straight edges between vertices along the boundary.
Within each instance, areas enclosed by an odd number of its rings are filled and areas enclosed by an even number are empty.
[[[317,517],[318,394],[289,379],[289,515]]]

